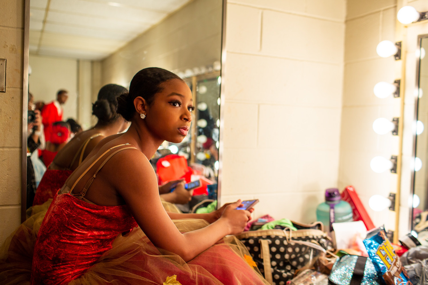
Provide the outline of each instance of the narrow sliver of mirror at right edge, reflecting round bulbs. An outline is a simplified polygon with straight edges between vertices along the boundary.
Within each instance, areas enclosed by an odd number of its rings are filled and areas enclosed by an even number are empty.
[[[419,74],[416,78],[419,85],[417,97],[417,123],[416,127],[416,150],[414,162],[414,182],[413,182],[413,223],[412,229],[418,235],[419,241],[425,236],[428,238],[428,132],[424,127],[428,126],[428,57],[425,50],[428,50],[428,35],[419,36]],[[425,96],[424,96],[425,93]]]

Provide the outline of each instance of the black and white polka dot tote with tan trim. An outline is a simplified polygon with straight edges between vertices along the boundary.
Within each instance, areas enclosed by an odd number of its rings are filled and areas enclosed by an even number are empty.
[[[333,243],[321,229],[288,228],[243,232],[236,237],[247,247],[260,272],[273,285],[285,285],[297,269],[315,262]]]

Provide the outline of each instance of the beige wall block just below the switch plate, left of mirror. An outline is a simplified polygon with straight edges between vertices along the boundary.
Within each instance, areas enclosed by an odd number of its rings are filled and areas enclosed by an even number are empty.
[[[0,93],[0,147],[20,148],[22,145],[22,88],[6,88]]]

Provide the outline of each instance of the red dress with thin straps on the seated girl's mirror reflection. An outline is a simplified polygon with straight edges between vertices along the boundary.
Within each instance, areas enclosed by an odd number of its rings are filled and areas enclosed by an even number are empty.
[[[52,199],[56,193],[58,193],[59,189],[61,189],[62,185],[64,185],[65,180],[67,180],[68,176],[73,173],[73,170],[70,170],[71,166],[76,161],[77,157],[79,157],[79,163],[82,163],[83,153],[85,152],[86,146],[92,138],[96,138],[101,134],[92,135],[83,144],[80,146],[79,150],[77,150],[74,158],[71,160],[70,165],[68,165],[65,170],[57,170],[57,169],[47,169],[43,174],[42,179],[40,180],[39,186],[36,189],[36,194],[33,200],[33,206],[42,205],[49,199]],[[80,155],[80,156],[79,156]],[[53,158],[52,158],[53,160]]]

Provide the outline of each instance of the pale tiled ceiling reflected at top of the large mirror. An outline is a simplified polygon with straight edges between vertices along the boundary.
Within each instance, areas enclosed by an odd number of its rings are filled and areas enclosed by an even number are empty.
[[[31,0],[30,53],[99,60],[191,0]]]

